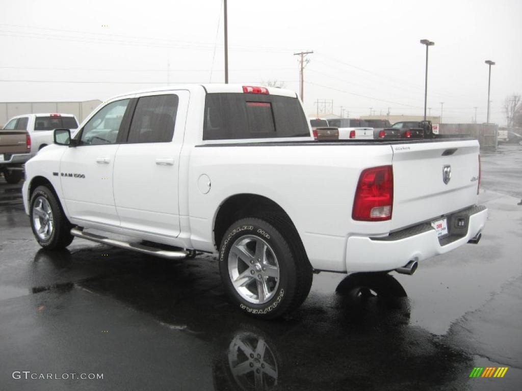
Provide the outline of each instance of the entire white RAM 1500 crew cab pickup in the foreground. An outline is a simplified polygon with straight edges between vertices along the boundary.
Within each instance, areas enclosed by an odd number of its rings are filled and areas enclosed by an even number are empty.
[[[300,306],[314,272],[411,274],[478,242],[487,219],[476,140],[314,141],[295,92],[278,88],[117,96],[54,137],[23,185],[42,247],[215,253],[231,301],[258,317]]]

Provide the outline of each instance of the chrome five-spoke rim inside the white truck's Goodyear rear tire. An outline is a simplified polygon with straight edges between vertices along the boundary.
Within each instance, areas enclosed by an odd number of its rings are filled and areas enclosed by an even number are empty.
[[[279,286],[279,264],[268,243],[253,235],[234,242],[228,256],[230,280],[236,292],[248,302],[264,304]]]

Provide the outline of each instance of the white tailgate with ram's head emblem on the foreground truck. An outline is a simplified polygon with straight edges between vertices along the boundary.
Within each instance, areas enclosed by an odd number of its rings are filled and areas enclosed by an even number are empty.
[[[391,230],[477,203],[479,144],[476,140],[393,144],[392,149]]]

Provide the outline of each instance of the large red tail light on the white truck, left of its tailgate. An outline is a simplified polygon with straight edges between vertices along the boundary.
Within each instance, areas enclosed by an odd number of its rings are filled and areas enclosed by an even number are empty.
[[[392,218],[393,167],[365,169],[359,177],[352,218],[359,221],[385,221]]]

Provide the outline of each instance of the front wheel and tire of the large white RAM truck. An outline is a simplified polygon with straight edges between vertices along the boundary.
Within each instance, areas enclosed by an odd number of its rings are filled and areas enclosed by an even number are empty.
[[[63,249],[73,241],[72,225],[49,187],[38,186],[34,190],[29,213],[33,235],[44,249]]]

